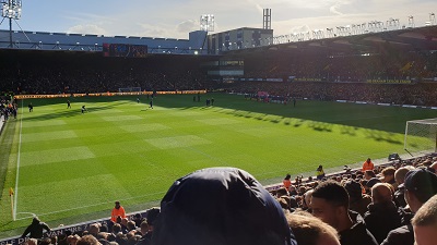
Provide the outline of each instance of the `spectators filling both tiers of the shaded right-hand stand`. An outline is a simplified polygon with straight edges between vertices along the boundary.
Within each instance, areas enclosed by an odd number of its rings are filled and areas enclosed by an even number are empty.
[[[368,56],[330,56],[296,51],[288,56],[263,53],[246,59],[246,81],[234,82],[227,89],[315,100],[437,106],[436,77],[437,52],[386,50]],[[267,82],[268,78],[283,82]]]

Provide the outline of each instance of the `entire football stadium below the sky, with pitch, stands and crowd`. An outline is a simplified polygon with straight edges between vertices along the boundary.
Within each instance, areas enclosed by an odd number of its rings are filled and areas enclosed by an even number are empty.
[[[21,1],[3,10],[12,2]],[[263,28],[203,28],[189,39],[0,29],[1,244],[67,245],[88,234],[102,244],[246,244],[233,242],[246,232],[234,219],[258,213],[238,222],[274,233],[275,215],[263,208],[286,210],[280,220],[311,213],[323,182],[358,186],[359,201],[375,206],[373,186],[389,183],[388,203],[404,210],[415,174],[406,172],[426,171],[427,195],[437,194],[437,25],[274,36],[269,17],[267,9]],[[367,244],[403,225],[370,225],[374,212],[355,196],[349,208],[366,220]],[[111,215],[116,201],[126,218]],[[31,232],[35,220],[44,234]],[[184,226],[194,234],[168,234]],[[299,244],[299,232],[282,244]]]

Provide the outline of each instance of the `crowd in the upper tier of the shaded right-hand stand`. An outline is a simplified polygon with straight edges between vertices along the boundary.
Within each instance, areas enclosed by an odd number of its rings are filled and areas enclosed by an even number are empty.
[[[365,82],[366,79],[437,77],[437,53],[434,51],[381,51],[380,53],[319,53],[305,50],[290,54],[262,53],[245,60],[247,77],[277,75],[323,78],[326,81]]]

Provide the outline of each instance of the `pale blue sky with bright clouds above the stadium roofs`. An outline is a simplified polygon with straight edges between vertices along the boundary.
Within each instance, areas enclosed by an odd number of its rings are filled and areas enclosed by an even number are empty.
[[[213,14],[214,33],[262,28],[262,9],[272,10],[274,36],[399,19],[424,26],[437,14],[436,0],[22,0],[24,30],[188,39],[200,16]],[[9,29],[3,21],[1,29]],[[20,27],[13,23],[13,29]]]

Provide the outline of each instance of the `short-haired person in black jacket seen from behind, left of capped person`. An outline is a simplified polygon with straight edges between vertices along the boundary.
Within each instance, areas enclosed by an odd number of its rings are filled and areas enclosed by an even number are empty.
[[[371,204],[364,215],[367,229],[381,243],[389,232],[401,226],[402,212],[393,203],[393,195],[387,183],[377,183],[371,187]]]

